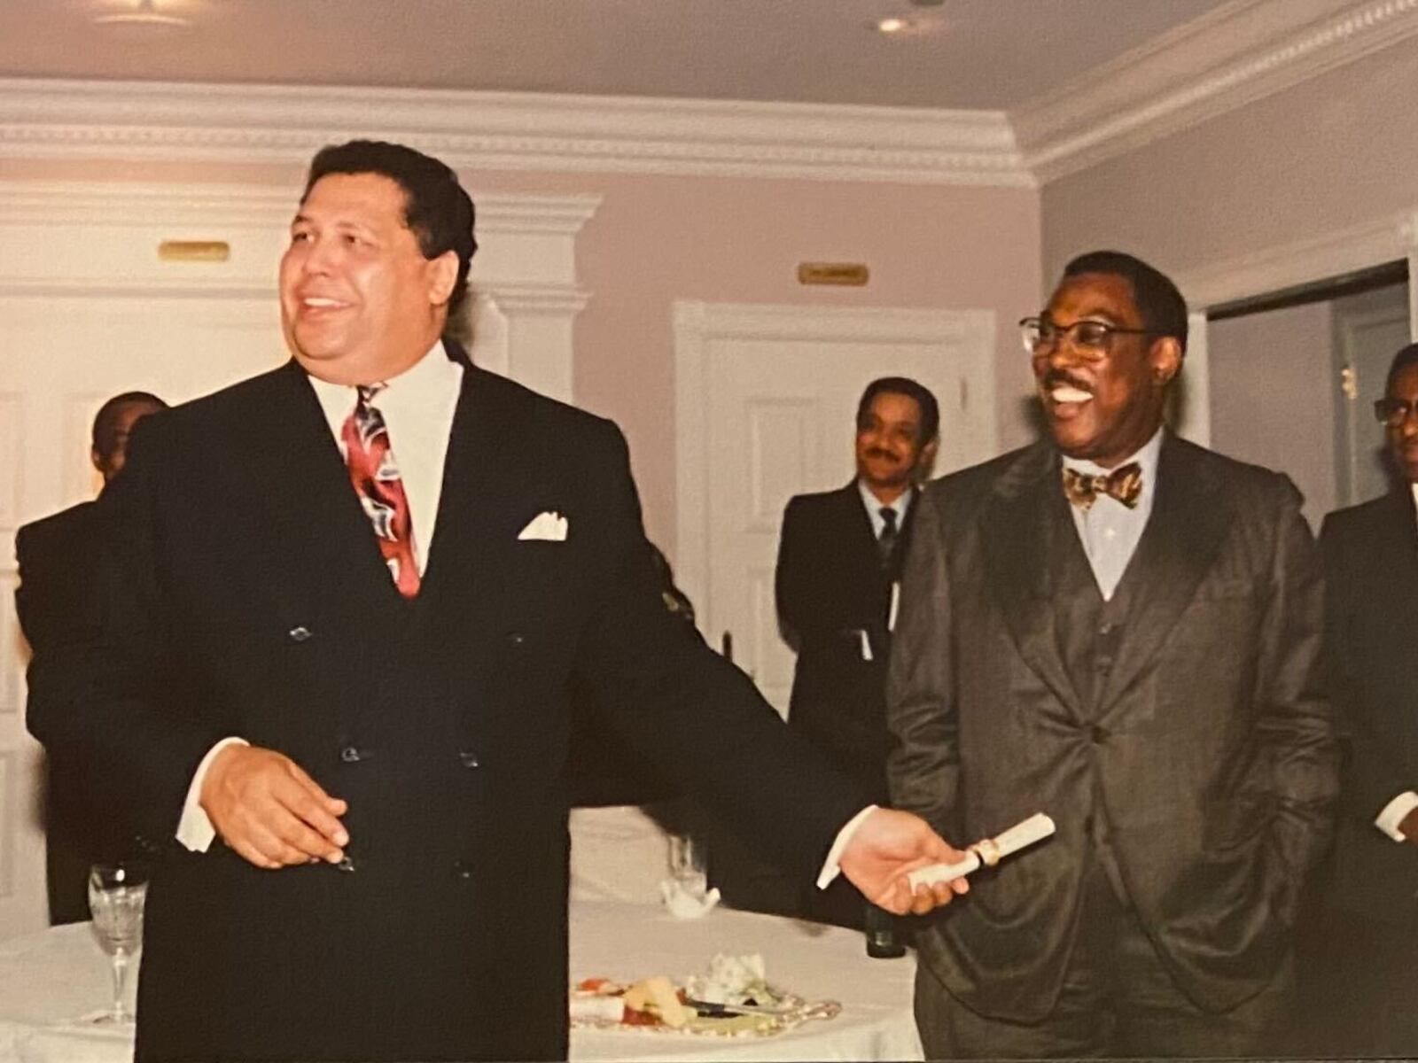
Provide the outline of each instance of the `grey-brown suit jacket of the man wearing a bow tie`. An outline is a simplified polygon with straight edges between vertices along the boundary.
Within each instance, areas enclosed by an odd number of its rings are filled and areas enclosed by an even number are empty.
[[[892,797],[956,843],[1039,811],[1058,825],[917,933],[970,1008],[1049,1012],[1105,828],[1187,996],[1224,1011],[1275,972],[1337,788],[1299,502],[1283,476],[1168,434],[1137,608],[1085,706],[1055,634],[1059,551],[1078,543],[1052,444],[926,488],[888,693]]]

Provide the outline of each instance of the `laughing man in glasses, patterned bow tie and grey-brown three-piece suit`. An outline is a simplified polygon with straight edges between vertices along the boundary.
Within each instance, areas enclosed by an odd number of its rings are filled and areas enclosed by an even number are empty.
[[[1058,832],[917,930],[926,1054],[1265,1054],[1337,788],[1299,493],[1163,427],[1147,264],[1082,255],[1021,325],[1049,434],[919,500],[891,785],[956,840]]]

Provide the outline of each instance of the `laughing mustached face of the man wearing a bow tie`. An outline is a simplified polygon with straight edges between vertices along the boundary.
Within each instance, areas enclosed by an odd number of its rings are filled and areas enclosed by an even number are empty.
[[[1095,320],[1143,329],[1133,286],[1113,274],[1066,276],[1044,310],[1056,327]],[[1181,344],[1170,336],[1115,334],[1098,361],[1065,340],[1035,353],[1034,378],[1049,431],[1071,458],[1110,469],[1127,461],[1161,425],[1167,384],[1181,369]]]

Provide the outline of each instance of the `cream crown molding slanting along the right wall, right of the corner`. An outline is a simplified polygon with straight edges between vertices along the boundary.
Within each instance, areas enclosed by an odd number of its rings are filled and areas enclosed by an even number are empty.
[[[1418,0],[1231,0],[1010,113],[1039,183],[1418,34]]]

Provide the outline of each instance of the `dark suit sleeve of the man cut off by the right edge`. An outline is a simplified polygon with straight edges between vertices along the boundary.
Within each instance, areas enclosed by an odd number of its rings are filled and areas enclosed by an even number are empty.
[[[1349,744],[1350,763],[1343,788],[1341,815],[1356,816],[1373,828],[1384,805],[1418,785],[1402,771],[1383,737],[1375,707],[1363,694],[1354,673],[1360,648],[1353,642],[1353,628],[1360,602],[1354,598],[1356,551],[1367,550],[1363,529],[1326,517],[1320,529],[1324,558],[1324,656],[1334,703],[1336,723]],[[1380,707],[1381,712],[1383,707]]]

